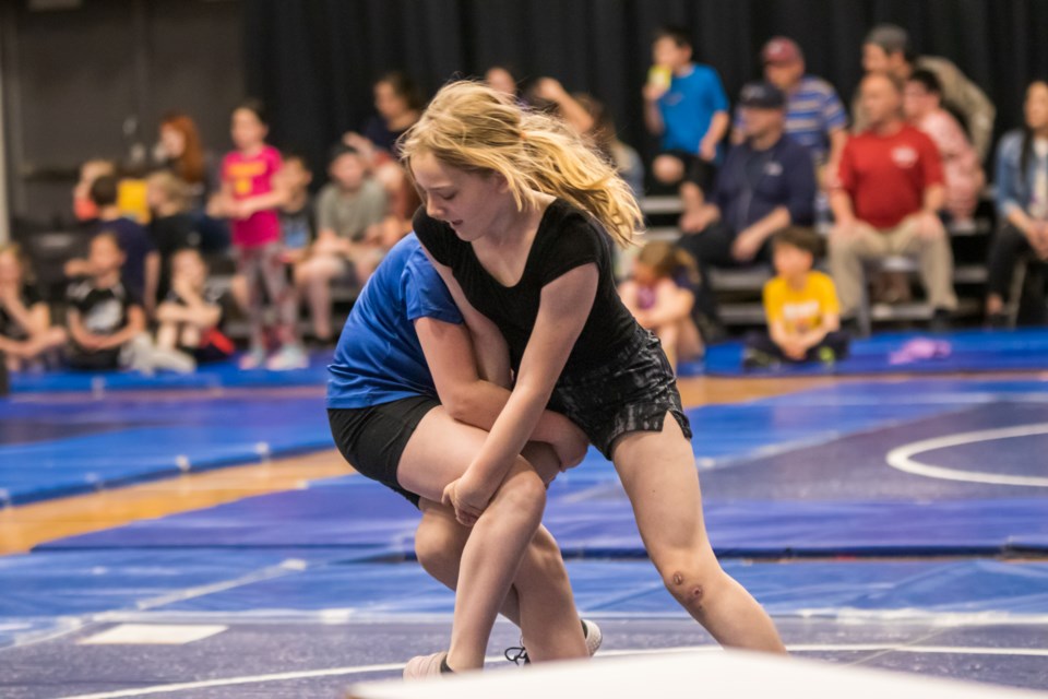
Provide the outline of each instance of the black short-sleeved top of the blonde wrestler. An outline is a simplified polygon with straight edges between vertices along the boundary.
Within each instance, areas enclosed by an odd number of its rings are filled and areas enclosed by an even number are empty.
[[[571,270],[595,263],[599,272],[597,295],[590,317],[575,342],[564,374],[585,371],[607,363],[633,335],[636,321],[622,305],[611,268],[611,239],[590,215],[562,199],[553,201],[538,232],[516,286],[502,286],[473,252],[473,246],[448,224],[430,218],[421,208],[415,214],[415,233],[433,259],[451,268],[473,307],[490,318],[510,346],[510,362],[521,366],[531,337],[543,287]]]

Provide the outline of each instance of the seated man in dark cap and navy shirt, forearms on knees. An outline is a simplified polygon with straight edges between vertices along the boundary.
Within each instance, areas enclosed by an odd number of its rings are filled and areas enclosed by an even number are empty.
[[[789,225],[811,225],[814,217],[811,153],[784,134],[782,91],[750,83],[739,102],[746,141],[728,153],[710,202],[699,210],[700,233],[680,240],[702,270],[699,303],[714,335],[719,329],[710,268],[770,262],[772,234]]]

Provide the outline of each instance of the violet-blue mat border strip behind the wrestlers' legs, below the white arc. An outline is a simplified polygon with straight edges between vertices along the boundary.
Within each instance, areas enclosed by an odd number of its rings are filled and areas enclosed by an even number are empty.
[[[418,513],[358,484],[264,495],[207,510],[59,540],[36,550],[384,547],[413,555]],[[714,549],[727,557],[998,555],[1048,547],[1048,498],[931,502],[707,501]],[[571,558],[645,556],[620,489],[550,489],[545,523]]]

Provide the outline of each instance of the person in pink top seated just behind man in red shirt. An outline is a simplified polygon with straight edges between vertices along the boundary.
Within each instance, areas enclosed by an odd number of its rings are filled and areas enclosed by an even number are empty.
[[[942,108],[941,92],[934,73],[915,70],[906,81],[903,111],[939,149],[946,180],[946,213],[955,222],[970,222],[986,178],[964,129]]]

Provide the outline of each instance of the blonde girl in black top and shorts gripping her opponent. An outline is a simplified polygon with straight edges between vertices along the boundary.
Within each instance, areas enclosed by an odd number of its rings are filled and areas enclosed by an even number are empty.
[[[629,187],[562,123],[471,82],[437,94],[402,152],[425,202],[418,238],[478,354],[500,353],[515,379],[445,499],[479,517],[549,404],[615,463],[681,605],[725,645],[784,652],[771,618],[714,556],[676,380],[616,293],[608,236],[629,244],[641,224]]]

